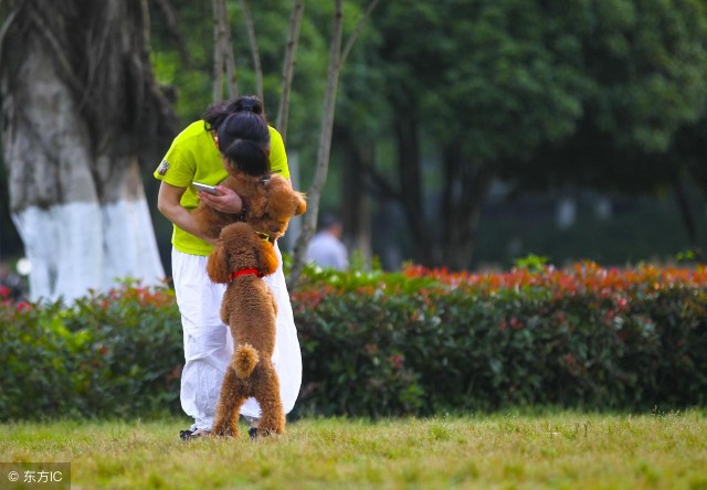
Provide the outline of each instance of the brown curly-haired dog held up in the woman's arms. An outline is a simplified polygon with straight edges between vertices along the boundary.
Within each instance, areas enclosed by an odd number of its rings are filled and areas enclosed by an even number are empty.
[[[307,211],[305,194],[292,189],[289,182],[276,173],[264,177],[229,175],[221,185],[234,190],[245,203],[245,213],[234,215],[222,213],[204,203],[192,211],[197,227],[204,235],[215,238],[224,226],[243,220],[256,232],[268,235],[273,241],[287,231],[293,216]]]

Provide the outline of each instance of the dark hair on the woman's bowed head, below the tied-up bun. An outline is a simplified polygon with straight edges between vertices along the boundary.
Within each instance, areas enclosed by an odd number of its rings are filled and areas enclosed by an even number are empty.
[[[221,153],[236,170],[250,175],[270,172],[270,129],[258,115],[247,110],[231,114],[217,135]]]

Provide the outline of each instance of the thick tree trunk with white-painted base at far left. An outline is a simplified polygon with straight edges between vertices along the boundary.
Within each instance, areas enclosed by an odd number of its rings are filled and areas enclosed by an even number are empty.
[[[138,153],[169,110],[149,67],[147,3],[45,7],[11,2],[0,46],[3,158],[30,296],[71,301],[126,277],[158,285]]]

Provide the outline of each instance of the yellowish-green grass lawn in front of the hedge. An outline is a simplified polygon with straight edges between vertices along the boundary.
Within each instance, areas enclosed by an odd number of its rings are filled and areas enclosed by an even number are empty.
[[[70,461],[73,490],[707,489],[704,411],[305,418],[255,443],[245,430],[238,439],[182,443],[187,425],[4,424],[0,460]]]

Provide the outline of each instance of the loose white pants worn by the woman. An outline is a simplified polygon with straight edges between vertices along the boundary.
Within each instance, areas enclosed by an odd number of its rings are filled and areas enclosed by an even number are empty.
[[[283,274],[282,255],[275,274],[263,278],[277,302],[277,332],[273,364],[279,377],[285,413],[295,406],[302,384],[302,353]],[[225,285],[213,284],[207,275],[207,257],[172,248],[172,277],[184,334],[184,369],[181,373],[181,407],[193,417],[196,429],[211,429],[221,382],[233,353],[233,339],[221,321],[221,300]],[[261,408],[249,398],[241,415],[258,418]]]

